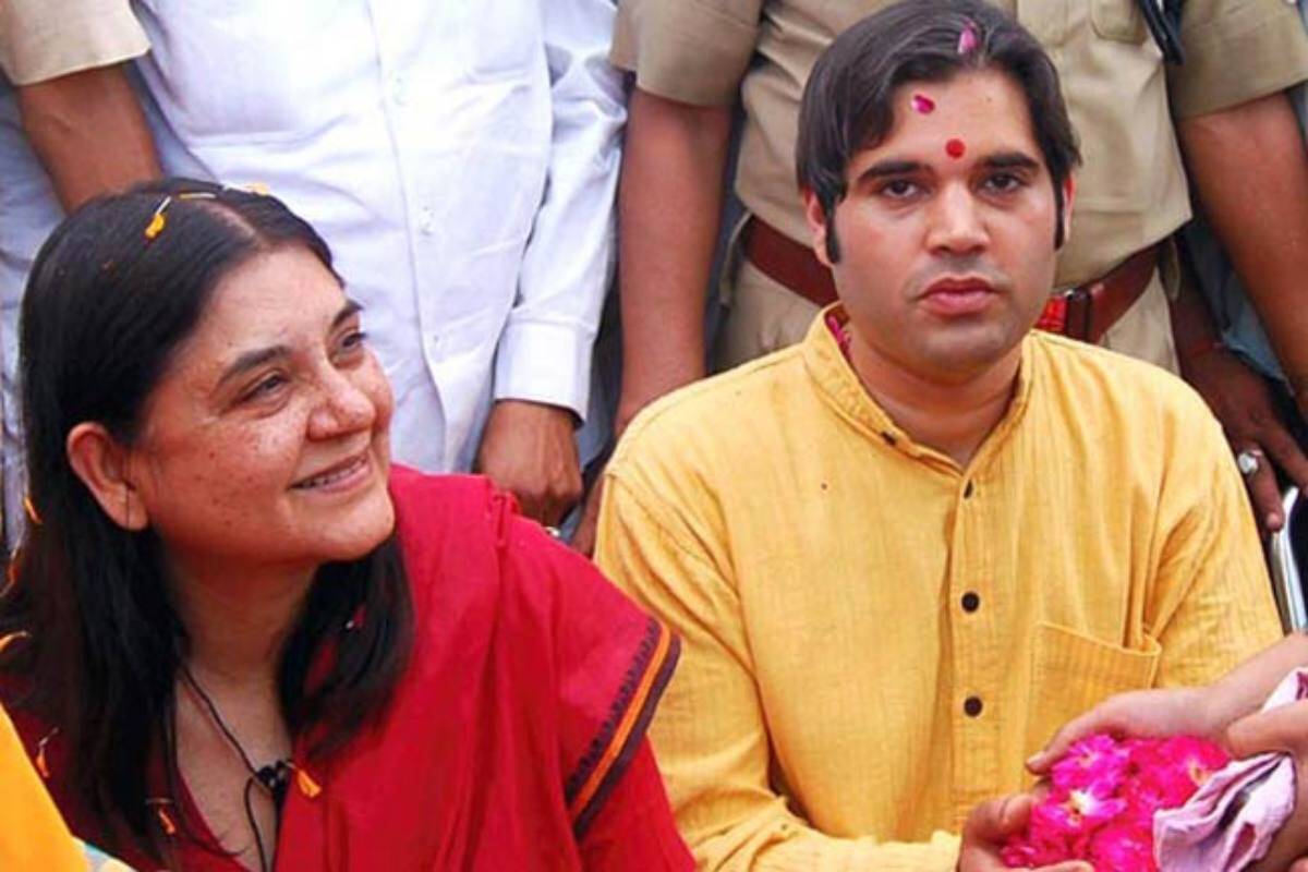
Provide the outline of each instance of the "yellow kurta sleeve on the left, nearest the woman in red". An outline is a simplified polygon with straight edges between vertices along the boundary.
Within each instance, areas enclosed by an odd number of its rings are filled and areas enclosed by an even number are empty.
[[[954,869],[955,835],[914,845],[833,838],[808,826],[772,788],[740,604],[730,566],[704,529],[644,493],[620,464],[610,467],[595,561],[681,638],[681,659],[649,736],[698,869]]]

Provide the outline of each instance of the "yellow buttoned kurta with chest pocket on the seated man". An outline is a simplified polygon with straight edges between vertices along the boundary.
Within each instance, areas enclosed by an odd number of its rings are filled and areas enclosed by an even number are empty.
[[[819,318],[641,414],[599,523],[599,565],[683,638],[650,736],[708,869],[952,869],[1062,722],[1281,635],[1202,400],[1042,333],[961,469]]]

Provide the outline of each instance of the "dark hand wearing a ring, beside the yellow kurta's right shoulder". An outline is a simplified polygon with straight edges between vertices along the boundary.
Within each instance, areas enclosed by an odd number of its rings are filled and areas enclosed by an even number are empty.
[[[1231,450],[1236,454],[1250,450],[1264,454],[1258,471],[1245,476],[1244,484],[1249,489],[1258,527],[1264,532],[1281,529],[1286,523],[1284,509],[1277,475],[1269,461],[1275,461],[1301,490],[1308,490],[1308,458],[1282,424],[1267,384],[1224,349],[1182,360],[1181,371],[1222,422]]]

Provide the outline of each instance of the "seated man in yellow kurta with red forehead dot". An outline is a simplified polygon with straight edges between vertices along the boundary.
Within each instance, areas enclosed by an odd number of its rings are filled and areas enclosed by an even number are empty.
[[[1031,331],[1076,161],[1048,56],[980,0],[819,60],[797,162],[840,305],[637,418],[600,510],[600,566],[683,638],[651,735],[701,868],[951,869],[1087,703],[1279,634],[1202,400]]]

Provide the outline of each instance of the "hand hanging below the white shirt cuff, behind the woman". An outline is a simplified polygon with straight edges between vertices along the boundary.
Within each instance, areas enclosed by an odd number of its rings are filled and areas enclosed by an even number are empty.
[[[543,403],[498,400],[473,468],[511,492],[525,515],[556,526],[581,499],[573,413]]]

